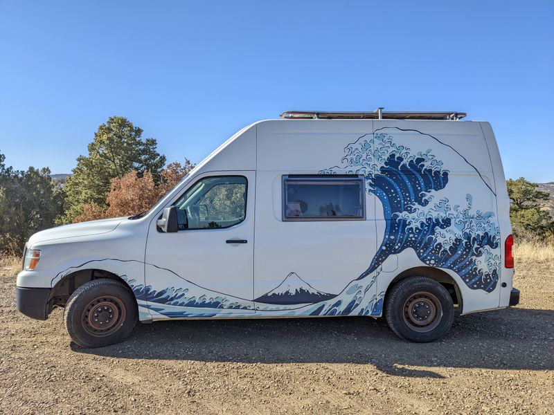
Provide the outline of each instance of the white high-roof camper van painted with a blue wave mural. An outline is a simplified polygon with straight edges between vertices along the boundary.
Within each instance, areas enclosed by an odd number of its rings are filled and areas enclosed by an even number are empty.
[[[65,307],[84,347],[167,319],[386,317],[440,338],[519,302],[488,122],[464,113],[291,111],[245,127],[146,213],[26,243],[17,308]]]

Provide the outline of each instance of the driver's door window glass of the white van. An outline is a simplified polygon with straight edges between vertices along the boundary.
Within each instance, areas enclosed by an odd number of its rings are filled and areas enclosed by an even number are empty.
[[[247,178],[202,178],[175,203],[179,230],[229,228],[244,221]]]

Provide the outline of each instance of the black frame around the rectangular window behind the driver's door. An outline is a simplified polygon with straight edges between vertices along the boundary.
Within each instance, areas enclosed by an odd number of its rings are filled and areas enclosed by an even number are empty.
[[[361,216],[287,216],[287,181],[352,181],[360,183]],[[328,222],[366,220],[366,183],[363,174],[283,174],[281,178],[281,219],[284,222]]]

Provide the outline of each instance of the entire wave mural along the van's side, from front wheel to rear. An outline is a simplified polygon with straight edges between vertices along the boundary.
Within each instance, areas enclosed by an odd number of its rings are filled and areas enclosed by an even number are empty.
[[[339,158],[338,165],[319,173],[363,174],[366,191],[375,194],[381,203],[385,222],[384,236],[376,255],[368,257],[367,270],[352,275],[341,293],[321,293],[289,273],[283,283],[291,277],[289,285],[294,290],[284,289],[281,284],[257,299],[242,299],[202,288],[172,270],[155,267],[156,273],[168,273],[156,280],[177,278],[175,285],[179,288],[154,288],[126,279],[139,306],[148,308],[154,317],[271,311],[285,315],[378,316],[384,299],[384,292],[375,295],[381,266],[390,255],[401,255],[406,250],[413,250],[423,264],[454,271],[472,290],[494,291],[500,269],[499,227],[492,212],[496,195],[463,155],[429,134],[386,127],[348,144]],[[467,180],[470,185],[462,183]],[[458,191],[468,188],[471,194]],[[296,287],[299,284],[301,288]]]

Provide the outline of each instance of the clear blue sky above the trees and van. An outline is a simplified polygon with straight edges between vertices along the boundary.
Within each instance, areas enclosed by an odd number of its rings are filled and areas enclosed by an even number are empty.
[[[554,1],[3,1],[0,152],[71,172],[129,118],[199,162],[289,109],[467,111],[554,181]]]

